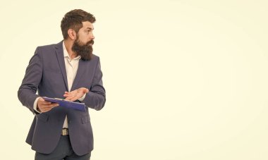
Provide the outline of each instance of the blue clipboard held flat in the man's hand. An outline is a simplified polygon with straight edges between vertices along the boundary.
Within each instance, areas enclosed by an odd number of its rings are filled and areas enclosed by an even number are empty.
[[[68,101],[65,99],[58,99],[58,98],[49,98],[49,97],[42,97],[46,101],[51,101],[54,103],[58,103],[59,106],[64,106],[69,109],[76,109],[79,111],[86,111],[85,110],[85,104],[84,103],[79,103],[75,101]]]

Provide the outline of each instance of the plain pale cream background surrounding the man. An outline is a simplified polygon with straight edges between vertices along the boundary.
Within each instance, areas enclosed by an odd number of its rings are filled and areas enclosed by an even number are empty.
[[[267,1],[1,2],[1,159],[34,159],[18,87],[75,8],[97,18],[106,88],[92,160],[268,159]]]

